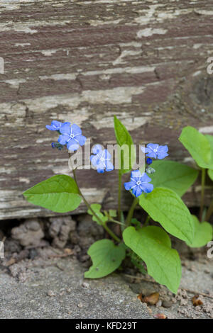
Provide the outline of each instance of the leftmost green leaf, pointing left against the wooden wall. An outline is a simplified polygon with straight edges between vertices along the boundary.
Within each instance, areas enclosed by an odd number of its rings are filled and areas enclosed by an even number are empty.
[[[75,180],[64,174],[38,183],[25,191],[23,196],[30,203],[57,213],[75,210],[82,201]]]

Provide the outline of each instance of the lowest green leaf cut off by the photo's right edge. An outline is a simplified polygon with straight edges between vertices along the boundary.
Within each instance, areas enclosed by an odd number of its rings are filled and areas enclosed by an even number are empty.
[[[189,247],[204,247],[212,240],[212,225],[208,222],[199,222],[195,215],[192,215],[192,221],[195,225],[195,238],[192,242],[187,242],[187,245]]]

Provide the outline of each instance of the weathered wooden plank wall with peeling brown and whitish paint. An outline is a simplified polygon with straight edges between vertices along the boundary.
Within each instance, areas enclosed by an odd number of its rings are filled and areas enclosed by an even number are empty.
[[[67,153],[50,147],[56,135],[45,125],[53,119],[77,123],[104,145],[115,142],[116,114],[135,142],[168,144],[171,159],[190,163],[178,142],[182,127],[213,134],[212,4],[1,0],[0,219],[53,215],[21,195],[69,172]],[[91,203],[115,207],[116,171],[78,177]],[[200,187],[184,199],[197,205]],[[130,202],[124,193],[124,209]]]

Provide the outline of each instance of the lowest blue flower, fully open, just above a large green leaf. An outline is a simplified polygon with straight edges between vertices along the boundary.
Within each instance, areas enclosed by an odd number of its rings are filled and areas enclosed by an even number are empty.
[[[147,176],[146,172],[141,172],[139,170],[131,171],[131,181],[124,183],[124,187],[127,191],[132,190],[132,193],[136,198],[141,196],[143,192],[151,193],[153,191],[153,184],[148,184],[151,178]]]

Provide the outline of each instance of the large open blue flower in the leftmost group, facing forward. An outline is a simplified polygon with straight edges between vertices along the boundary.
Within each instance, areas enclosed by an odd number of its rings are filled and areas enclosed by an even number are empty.
[[[82,130],[77,125],[64,123],[60,127],[60,137],[58,142],[60,145],[67,145],[67,149],[75,151],[79,146],[83,146],[87,138],[82,135]]]

